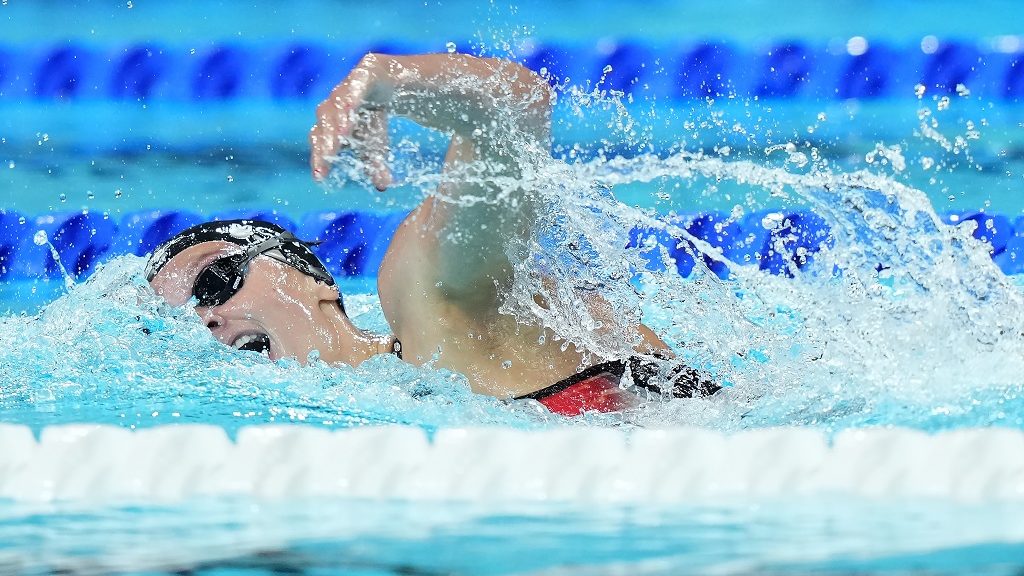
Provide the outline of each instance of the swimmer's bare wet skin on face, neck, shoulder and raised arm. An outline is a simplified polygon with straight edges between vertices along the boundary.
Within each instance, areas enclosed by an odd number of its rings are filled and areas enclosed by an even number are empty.
[[[515,110],[517,116],[495,122],[498,108]],[[526,202],[516,204],[517,209],[489,203],[465,207],[440,199],[495,193],[488,186],[451,177],[460,167],[484,162],[495,175],[517,173],[519,167],[496,142],[515,137],[547,154],[547,82],[513,63],[463,54],[369,54],[317,108],[317,123],[309,134],[313,177],[323,179],[330,159],[348,150],[362,160],[374,186],[387,189],[389,115],[452,134],[444,160],[449,177],[438,195],[424,200],[398,228],[378,273],[381,308],[393,336],[359,330],[341,313],[335,287],[265,255],[251,262],[245,285],[229,300],[197,308],[213,334],[228,345],[266,335],[271,359],[304,362],[315,349],[324,362],[353,366],[391,352],[397,337],[407,362],[459,372],[473,392],[499,398],[536,392],[608,360],[566,345],[550,330],[499,314],[512,274],[505,245],[529,228]],[[161,270],[153,286],[170,303],[184,303],[203,269],[238,250],[225,242],[190,247]],[[538,304],[545,305],[538,297]],[[610,310],[600,301],[580,304],[592,312]],[[631,341],[638,352],[668,351],[643,325],[636,326]]]

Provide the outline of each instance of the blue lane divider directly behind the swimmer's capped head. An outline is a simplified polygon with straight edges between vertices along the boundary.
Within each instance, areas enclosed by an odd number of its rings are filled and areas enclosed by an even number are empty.
[[[62,213],[28,217],[0,210],[0,281],[60,277],[60,263],[76,279],[84,279],[102,261],[120,254],[146,255],[161,242],[207,219],[252,218],[278,222],[303,240],[318,241],[313,250],[337,278],[373,277],[402,212],[313,212],[299,221],[273,211],[233,210],[204,216],[183,210],[144,210],[120,220],[100,213]],[[1006,274],[1024,273],[1024,216],[1011,220],[1001,214],[965,212],[946,214],[946,221],[974,229],[989,244],[993,260]],[[757,265],[772,274],[792,274],[813,261],[814,254],[834,239],[824,220],[812,212],[765,210],[735,220],[721,212],[681,216],[677,221],[692,236],[721,248],[731,261]],[[47,242],[41,242],[41,240]],[[687,241],[664,231],[636,229],[631,244],[648,254],[648,268],[664,268],[656,243],[672,256],[677,272],[688,276],[697,252]],[[51,249],[52,246],[52,249]],[[706,258],[709,268],[725,277],[721,262]],[[671,265],[671,264],[670,264]]]

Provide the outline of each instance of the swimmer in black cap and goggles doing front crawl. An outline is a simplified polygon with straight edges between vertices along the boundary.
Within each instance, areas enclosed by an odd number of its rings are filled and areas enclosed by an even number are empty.
[[[514,110],[513,120],[498,121],[498,107]],[[655,360],[671,352],[642,324],[635,354],[599,359],[499,313],[512,284],[504,245],[511,235],[528,232],[527,203],[518,203],[516,212],[508,203],[453,200],[494,194],[483,178],[458,177],[470,165],[485,165],[493,175],[517,174],[513,155],[502,148],[510,140],[549,154],[551,89],[540,76],[511,61],[464,54],[368,54],[316,115],[309,133],[313,177],[323,180],[330,160],[350,151],[382,192],[391,183],[390,116],[451,134],[442,183],[399,225],[378,271],[391,334],[352,324],[309,244],[268,222],[233,220],[182,232],[146,265],[155,291],[173,305],[194,298],[218,340],[272,360],[316,356],[350,366],[393,354],[464,374],[475,393],[529,398],[566,415],[635,406],[638,390],[662,392],[655,381],[673,382],[666,394],[677,397],[718,389],[681,364],[660,372]]]

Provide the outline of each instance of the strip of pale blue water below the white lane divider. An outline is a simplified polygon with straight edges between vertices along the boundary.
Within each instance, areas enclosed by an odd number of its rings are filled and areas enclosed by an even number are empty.
[[[937,508],[921,501],[899,504],[897,515],[891,505],[594,509],[221,500],[98,510],[26,507],[4,513],[4,524],[24,528],[5,539],[0,559],[11,549],[31,549],[22,558],[76,573],[140,565],[145,573],[187,567],[197,574],[247,575],[1019,573],[1019,544],[967,541],[932,552],[929,541],[954,540],[949,527],[962,522],[987,524],[985,534],[997,540],[996,529],[1012,525],[1020,510]],[[44,525],[33,522],[40,516]],[[50,531],[75,538],[54,540]],[[795,541],[804,545],[795,549]],[[182,562],[182,549],[201,560]],[[104,562],[90,565],[94,557]],[[16,571],[18,565],[3,566]]]

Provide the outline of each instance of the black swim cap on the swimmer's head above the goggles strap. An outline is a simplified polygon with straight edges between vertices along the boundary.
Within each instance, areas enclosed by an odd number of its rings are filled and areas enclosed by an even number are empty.
[[[273,222],[263,220],[219,220],[194,225],[153,251],[145,263],[145,279],[152,281],[171,258],[198,244],[221,241],[248,248],[271,239],[282,241],[274,249],[282,255],[276,259],[329,286],[335,285],[334,277],[309,249],[309,243],[299,240],[294,234]],[[341,303],[340,298],[339,303]],[[341,310],[344,312],[344,305]]]

